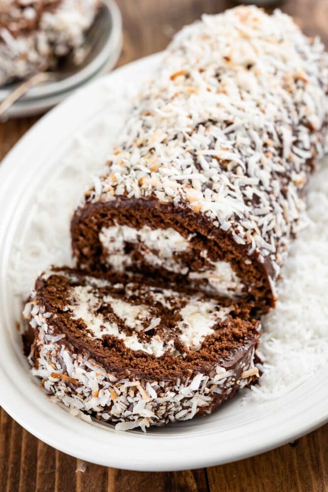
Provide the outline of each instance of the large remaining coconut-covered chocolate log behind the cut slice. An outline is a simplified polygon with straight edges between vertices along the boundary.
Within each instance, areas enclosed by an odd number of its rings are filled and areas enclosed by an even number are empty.
[[[280,11],[240,6],[184,28],[75,212],[77,265],[267,311],[323,154],[327,66]]]

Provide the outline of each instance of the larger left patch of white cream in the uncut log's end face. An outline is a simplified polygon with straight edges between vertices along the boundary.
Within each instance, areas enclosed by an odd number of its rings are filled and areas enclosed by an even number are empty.
[[[189,235],[191,239],[193,235]],[[114,225],[103,227],[99,234],[99,240],[107,252],[107,262],[116,271],[123,272],[131,266],[131,257],[125,254],[126,244],[141,243],[141,250],[147,263],[154,267],[163,267],[170,272],[187,273],[174,258],[174,253],[187,251],[189,241],[178,231],[169,227],[168,229],[151,229],[145,225],[137,230],[128,225]],[[154,253],[153,251],[156,251]]]

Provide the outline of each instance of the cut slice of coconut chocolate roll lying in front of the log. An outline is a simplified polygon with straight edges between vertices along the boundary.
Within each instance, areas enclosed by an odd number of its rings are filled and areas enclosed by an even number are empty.
[[[23,314],[47,393],[121,430],[209,414],[259,374],[259,322],[228,299],[64,268],[38,277]]]

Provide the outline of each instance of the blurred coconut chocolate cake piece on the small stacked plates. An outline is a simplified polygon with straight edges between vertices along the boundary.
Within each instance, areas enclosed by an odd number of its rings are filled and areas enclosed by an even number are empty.
[[[99,0],[0,0],[0,85],[79,48],[99,7]]]

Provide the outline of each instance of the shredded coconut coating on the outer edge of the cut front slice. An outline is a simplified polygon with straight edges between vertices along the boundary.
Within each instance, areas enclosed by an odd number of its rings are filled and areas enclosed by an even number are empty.
[[[226,370],[219,363],[209,366],[209,372],[197,372],[183,379],[167,381],[143,381],[106,372],[89,358],[87,352],[77,354],[60,349],[54,342],[54,326],[42,321],[43,307],[30,320],[38,328],[33,347],[37,347],[37,367],[31,372],[43,379],[44,387],[52,393],[54,401],[61,401],[72,415],[89,421],[88,413],[102,419],[118,422],[116,430],[126,431],[150,425],[160,425],[175,420],[188,420],[200,411],[210,413],[213,404],[245,387],[254,369],[254,347],[241,354],[234,369]],[[41,317],[40,317],[41,315]],[[62,345],[61,345],[62,347]],[[29,356],[33,365],[32,348]],[[62,353],[64,366],[61,365]],[[54,364],[58,369],[54,371]],[[70,372],[70,376],[65,374]],[[247,374],[250,376],[247,376]],[[237,379],[239,374],[246,374]],[[218,377],[219,376],[219,377]],[[237,377],[236,377],[237,376]]]

